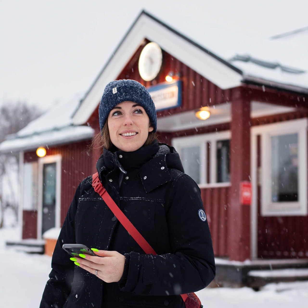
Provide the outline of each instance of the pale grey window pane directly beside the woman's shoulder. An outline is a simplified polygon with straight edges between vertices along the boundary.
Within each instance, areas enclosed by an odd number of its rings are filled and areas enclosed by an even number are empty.
[[[182,164],[188,174],[197,184],[200,183],[200,147],[182,148]]]

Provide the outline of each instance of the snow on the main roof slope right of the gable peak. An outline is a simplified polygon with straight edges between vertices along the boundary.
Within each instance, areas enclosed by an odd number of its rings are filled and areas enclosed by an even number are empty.
[[[151,15],[150,15],[151,16]],[[308,89],[308,27],[289,35],[260,38],[190,19],[168,18],[168,26],[243,72],[263,80]],[[240,57],[256,61],[241,61]],[[264,67],[261,62],[273,64]],[[282,67],[298,72],[287,72]]]

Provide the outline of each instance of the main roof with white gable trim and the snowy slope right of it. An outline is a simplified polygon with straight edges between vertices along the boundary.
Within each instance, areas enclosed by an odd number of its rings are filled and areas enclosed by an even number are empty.
[[[87,121],[106,84],[117,78],[145,38],[221,89],[257,82],[308,93],[308,35],[306,45],[298,37],[290,44],[280,38],[234,34],[194,20],[174,18],[169,23],[144,11],[140,14],[81,102],[74,124]]]

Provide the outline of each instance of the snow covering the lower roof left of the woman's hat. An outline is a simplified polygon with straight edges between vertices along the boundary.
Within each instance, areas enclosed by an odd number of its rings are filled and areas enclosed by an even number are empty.
[[[72,115],[78,108],[83,95],[76,94],[64,103],[58,103],[10,139],[0,144],[0,153],[32,150],[39,146],[48,147],[73,141],[91,139],[94,129],[89,126],[75,126]]]

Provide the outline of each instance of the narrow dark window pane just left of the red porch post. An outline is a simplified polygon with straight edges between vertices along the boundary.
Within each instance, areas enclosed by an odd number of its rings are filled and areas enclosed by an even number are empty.
[[[217,183],[230,182],[230,140],[216,143]]]

